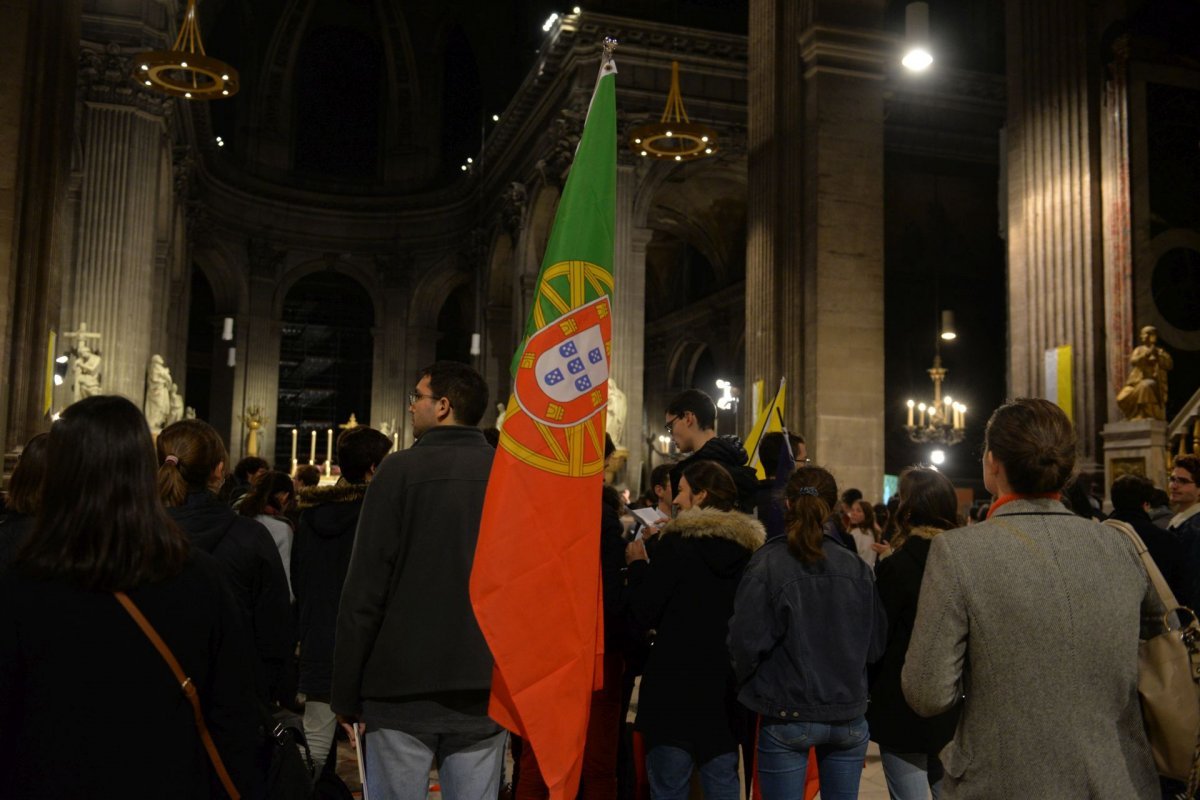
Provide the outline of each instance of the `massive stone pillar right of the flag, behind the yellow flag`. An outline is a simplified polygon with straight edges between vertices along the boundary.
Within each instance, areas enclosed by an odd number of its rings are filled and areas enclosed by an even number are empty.
[[[750,4],[746,385],[786,377],[788,426],[868,497],[883,476],[883,5]]]

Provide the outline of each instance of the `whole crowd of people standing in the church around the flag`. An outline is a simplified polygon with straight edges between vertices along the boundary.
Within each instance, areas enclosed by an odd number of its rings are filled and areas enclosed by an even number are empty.
[[[302,714],[314,778],[332,774],[341,722],[372,798],[425,798],[433,765],[451,800],[547,796],[515,739],[503,786],[509,735],[487,716],[493,662],[468,594],[487,402],[472,367],[431,365],[409,395],[414,445],[348,429],[334,483],[259,458],[227,475],[199,420],[152,440],[124,398],[68,407],[22,452],[0,517],[0,796],[224,796],[222,771],[263,796],[272,712]],[[602,489],[604,687],[581,798],[636,796],[640,774],[654,800],[694,780],[714,800],[751,784],[802,798],[810,763],[824,800],[856,798],[872,740],[899,800],[1183,788],[1157,776],[1138,703],[1138,643],[1163,608],[1073,482],[1056,405],[992,414],[991,497],[970,516],[929,467],[886,505],[840,492],[794,433],[763,437],[760,479],[715,420],[710,397],[680,393],[664,425],[685,457],[634,503]],[[1198,481],[1200,458],[1180,456],[1166,495],[1135,475],[1110,489],[1112,518],[1193,608]]]

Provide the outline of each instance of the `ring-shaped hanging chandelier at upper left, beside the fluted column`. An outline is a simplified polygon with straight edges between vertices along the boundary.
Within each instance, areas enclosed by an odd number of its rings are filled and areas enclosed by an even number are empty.
[[[133,79],[185,100],[221,100],[238,94],[238,71],[204,53],[196,0],[187,0],[184,24],[169,50],[138,53]]]

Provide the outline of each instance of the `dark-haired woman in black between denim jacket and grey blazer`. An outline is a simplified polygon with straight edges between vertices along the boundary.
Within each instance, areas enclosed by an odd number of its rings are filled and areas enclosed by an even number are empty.
[[[932,718],[908,708],[900,690],[912,624],[917,616],[920,579],[929,547],[942,531],[956,528],[958,495],[949,479],[936,469],[913,467],[900,474],[900,507],[892,536],[892,554],[875,569],[875,583],[888,615],[888,646],[870,670],[871,704],[866,721],[880,746],[883,777],[893,800],[937,800],[942,764],[937,753],[954,735],[958,709]]]

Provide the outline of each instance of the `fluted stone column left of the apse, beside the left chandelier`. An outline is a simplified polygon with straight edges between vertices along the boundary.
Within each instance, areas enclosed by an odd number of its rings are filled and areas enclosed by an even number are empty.
[[[115,46],[83,53],[83,186],[67,323],[101,335],[103,391],[136,399],[160,300],[155,225],[168,101],[136,86],[132,66]]]

